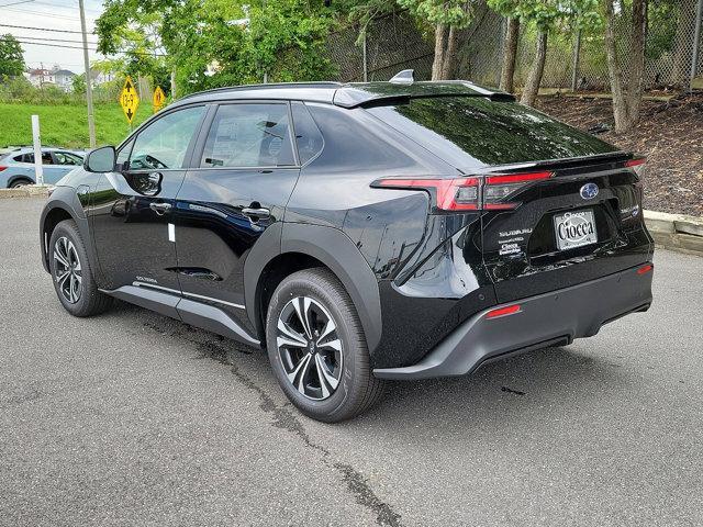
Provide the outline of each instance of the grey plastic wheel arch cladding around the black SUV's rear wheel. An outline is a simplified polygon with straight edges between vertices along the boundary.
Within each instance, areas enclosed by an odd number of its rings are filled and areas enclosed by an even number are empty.
[[[268,234],[271,227],[265,234]],[[263,238],[264,236],[259,242],[265,243],[256,244],[244,266],[246,311],[257,332],[260,334],[263,330],[263,323],[258,316],[263,295],[258,288],[263,279],[271,277],[267,273],[271,268],[269,264],[286,262],[294,272],[315,267],[319,262],[327,267],[349,293],[359,315],[369,352],[372,352],[381,339],[378,282],[368,262],[349,237],[334,227],[286,223],[278,226],[278,232],[266,236],[266,240]],[[299,258],[302,261],[291,264],[290,258]]]

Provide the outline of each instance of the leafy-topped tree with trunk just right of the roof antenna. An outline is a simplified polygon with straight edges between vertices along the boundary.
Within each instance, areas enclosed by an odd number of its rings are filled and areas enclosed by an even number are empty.
[[[398,3],[434,27],[432,80],[450,79],[456,69],[459,31],[473,18],[473,0],[398,0]]]

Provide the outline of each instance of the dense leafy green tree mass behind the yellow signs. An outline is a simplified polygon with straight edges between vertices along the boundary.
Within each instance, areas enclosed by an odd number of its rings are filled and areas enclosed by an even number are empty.
[[[125,53],[126,72],[179,93],[221,86],[320,80],[333,75],[325,44],[332,11],[310,0],[108,0],[99,51]],[[163,85],[161,85],[163,86]]]

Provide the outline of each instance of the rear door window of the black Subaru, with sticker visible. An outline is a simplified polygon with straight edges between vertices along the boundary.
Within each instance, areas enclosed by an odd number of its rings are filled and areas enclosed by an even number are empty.
[[[212,122],[201,167],[294,165],[288,104],[224,104]]]

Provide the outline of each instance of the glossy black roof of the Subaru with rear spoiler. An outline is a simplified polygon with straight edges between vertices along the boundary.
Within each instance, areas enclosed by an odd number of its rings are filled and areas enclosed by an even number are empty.
[[[223,100],[297,100],[324,102],[343,108],[382,103],[388,100],[419,97],[488,97],[493,100],[514,98],[510,93],[491,90],[466,80],[399,82],[284,82],[248,85],[201,91],[187,96],[178,103]]]

